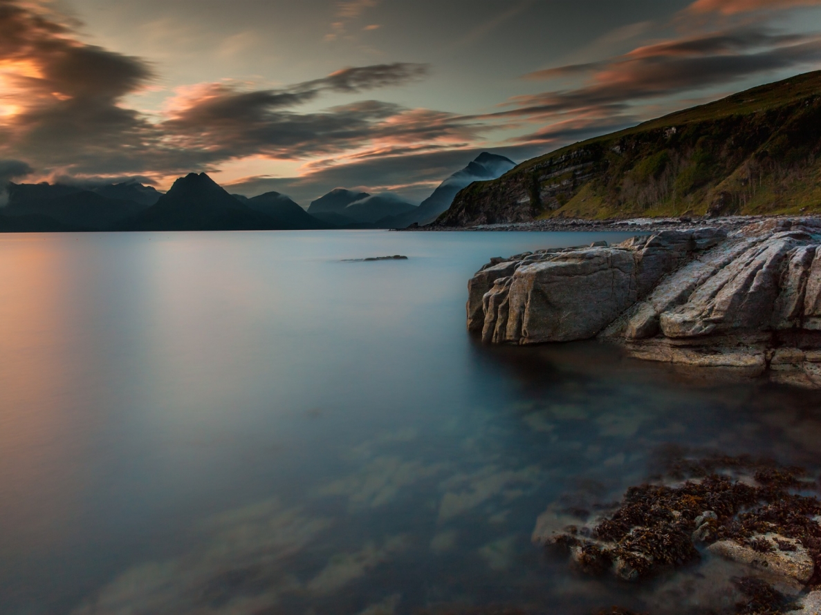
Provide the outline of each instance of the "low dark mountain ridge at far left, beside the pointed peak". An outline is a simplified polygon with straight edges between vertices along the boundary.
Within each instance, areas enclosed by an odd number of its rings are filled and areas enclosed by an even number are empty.
[[[40,220],[44,227],[31,230],[107,230],[145,209],[134,201],[60,184],[10,184],[8,195],[2,214],[10,218],[37,216],[29,218],[30,224],[36,226]],[[48,219],[56,227],[48,224]]]

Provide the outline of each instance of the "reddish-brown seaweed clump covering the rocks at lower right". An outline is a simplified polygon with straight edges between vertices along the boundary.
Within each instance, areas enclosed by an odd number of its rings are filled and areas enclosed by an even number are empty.
[[[583,572],[612,569],[621,579],[636,581],[697,561],[698,542],[735,540],[759,553],[773,552],[773,544],[762,537],[773,533],[780,536],[778,550],[795,551],[791,540],[797,540],[809,551],[815,563],[810,584],[821,583],[821,526],[813,518],[821,514],[821,503],[795,493],[816,486],[803,469],[779,467],[769,459],[713,456],[674,459],[668,476],[689,480],[633,486],[611,515],[590,530],[567,528],[553,544],[571,549]]]

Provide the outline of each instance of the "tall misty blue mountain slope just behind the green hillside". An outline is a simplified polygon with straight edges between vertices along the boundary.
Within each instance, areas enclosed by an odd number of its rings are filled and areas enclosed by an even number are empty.
[[[396,216],[392,220],[383,221],[383,223],[391,228],[403,229],[414,222],[420,225],[433,222],[439,214],[447,211],[447,208],[453,203],[453,198],[461,189],[475,181],[495,180],[510,171],[514,166],[516,166],[516,162],[513,162],[510,158],[482,152],[464,169],[456,171],[439,184],[437,189],[433,190],[433,194],[425,198],[414,212]]]

